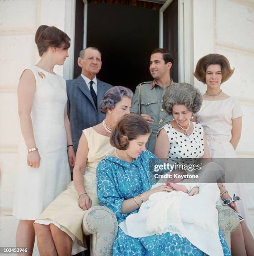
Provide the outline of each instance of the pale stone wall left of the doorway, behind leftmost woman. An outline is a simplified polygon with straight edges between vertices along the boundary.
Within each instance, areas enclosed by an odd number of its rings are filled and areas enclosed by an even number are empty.
[[[70,30],[70,23],[66,21],[74,16],[73,3],[75,6],[74,0],[0,0],[0,246],[15,245],[17,220],[10,215],[21,136],[19,78],[25,68],[39,60],[34,42],[38,26],[45,24]],[[57,66],[54,71],[63,76],[63,70],[63,66]],[[33,255],[39,255],[36,246]]]

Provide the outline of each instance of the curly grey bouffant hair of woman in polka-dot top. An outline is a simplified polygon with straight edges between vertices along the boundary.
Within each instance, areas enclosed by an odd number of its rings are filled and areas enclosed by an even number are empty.
[[[174,105],[185,105],[192,113],[200,110],[202,95],[199,89],[187,83],[175,83],[167,87],[163,95],[162,108],[172,115]]]

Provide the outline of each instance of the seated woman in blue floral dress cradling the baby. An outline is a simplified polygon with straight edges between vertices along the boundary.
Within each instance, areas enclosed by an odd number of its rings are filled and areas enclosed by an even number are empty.
[[[149,159],[156,158],[146,151],[145,144],[151,128],[140,115],[125,115],[116,124],[110,138],[114,154],[106,156],[97,167],[97,195],[101,205],[111,209],[118,224],[138,212],[143,202],[155,192],[171,192],[165,184],[151,189]],[[224,255],[231,255],[219,232]],[[164,233],[141,238],[126,235],[118,228],[113,255],[206,255],[184,237]]]

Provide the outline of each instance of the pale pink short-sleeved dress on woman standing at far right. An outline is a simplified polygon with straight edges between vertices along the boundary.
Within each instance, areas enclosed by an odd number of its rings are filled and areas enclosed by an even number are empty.
[[[236,158],[236,152],[229,141],[231,139],[232,119],[243,116],[239,102],[233,97],[225,100],[203,100],[201,109],[196,113],[196,116],[197,122],[204,127],[211,158]],[[247,220],[243,185],[240,183],[225,184],[231,197],[236,194],[243,199],[236,202],[236,206],[239,213]]]

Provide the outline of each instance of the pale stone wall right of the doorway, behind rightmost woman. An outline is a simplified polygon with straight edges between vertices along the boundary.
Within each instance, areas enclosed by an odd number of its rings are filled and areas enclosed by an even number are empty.
[[[225,55],[235,68],[222,90],[239,100],[244,112],[238,157],[254,158],[254,0],[193,0],[194,63],[204,55]],[[206,86],[194,79],[194,86]],[[254,184],[244,184],[248,225],[254,234]]]

